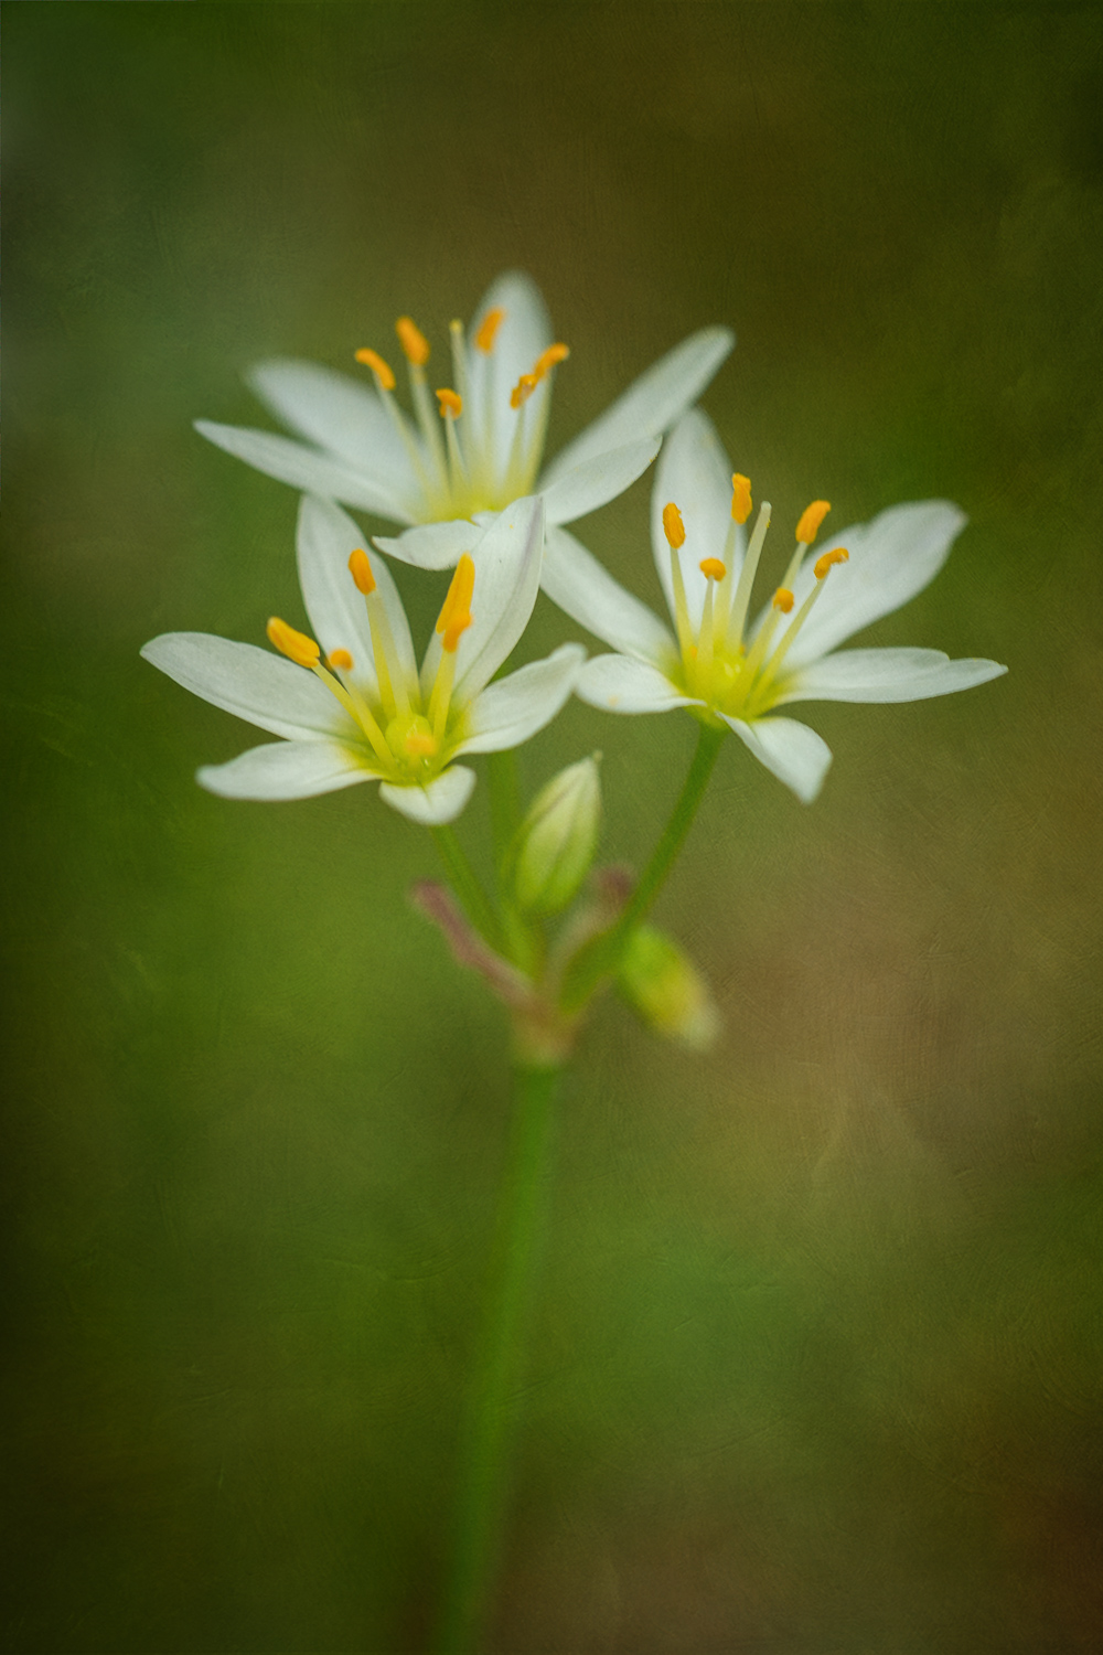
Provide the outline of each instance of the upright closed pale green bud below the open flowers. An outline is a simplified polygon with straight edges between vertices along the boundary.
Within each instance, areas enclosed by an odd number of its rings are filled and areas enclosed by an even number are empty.
[[[561,770],[521,823],[513,892],[526,912],[559,914],[590,871],[602,814],[600,756]]]

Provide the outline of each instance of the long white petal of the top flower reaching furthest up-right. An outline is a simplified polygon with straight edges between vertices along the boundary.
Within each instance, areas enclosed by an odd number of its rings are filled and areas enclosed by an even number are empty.
[[[620,449],[640,437],[660,437],[696,402],[734,343],[729,328],[703,328],[676,344],[556,455],[546,485],[607,449]]]

